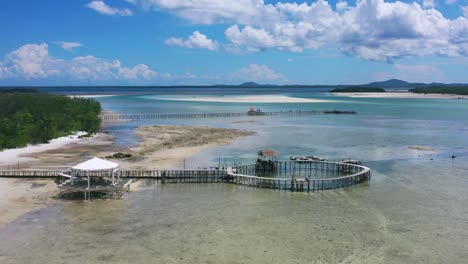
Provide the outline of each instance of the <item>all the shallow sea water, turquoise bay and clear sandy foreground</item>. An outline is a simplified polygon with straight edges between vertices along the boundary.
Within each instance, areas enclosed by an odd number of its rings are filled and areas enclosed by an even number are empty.
[[[361,159],[372,169],[372,180],[316,193],[143,181],[143,190],[123,200],[58,203],[22,216],[0,229],[0,260],[466,263],[468,101],[358,99],[300,89],[284,94],[333,102],[180,102],[158,100],[161,94],[99,101],[106,109],[131,113],[243,112],[253,105],[265,111],[345,109],[358,114],[123,123],[109,128],[117,144],[135,144],[131,129],[142,124],[237,128],[257,135],[209,149],[188,160],[187,166],[216,166],[219,158],[226,164],[251,162],[257,150],[273,148],[281,158]],[[409,149],[412,145],[434,151]],[[452,153],[456,159],[451,159]]]

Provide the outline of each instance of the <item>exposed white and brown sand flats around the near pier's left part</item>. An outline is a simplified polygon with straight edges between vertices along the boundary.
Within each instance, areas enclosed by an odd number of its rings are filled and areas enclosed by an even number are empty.
[[[134,148],[114,146],[114,138],[98,133],[90,138],[77,135],[51,140],[48,144],[0,152],[0,169],[67,169],[93,156],[104,158],[116,152],[131,158],[111,159],[122,169],[169,169],[184,159],[210,147],[229,144],[243,136],[254,135],[235,129],[189,126],[143,126],[135,130],[142,139]],[[33,209],[57,202],[53,180],[0,178],[0,226]]]

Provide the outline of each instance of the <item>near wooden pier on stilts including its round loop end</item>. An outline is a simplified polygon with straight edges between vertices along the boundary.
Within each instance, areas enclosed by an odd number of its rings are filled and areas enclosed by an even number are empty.
[[[317,191],[349,187],[370,180],[370,169],[332,161],[274,161],[268,171],[251,165],[227,170],[122,170],[121,178],[154,179],[167,183],[231,183],[257,188]],[[0,177],[58,178],[63,171],[4,170]],[[264,176],[264,175],[274,175]]]

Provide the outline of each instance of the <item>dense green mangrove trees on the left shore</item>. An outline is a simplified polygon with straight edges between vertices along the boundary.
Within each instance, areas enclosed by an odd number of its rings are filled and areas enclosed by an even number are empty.
[[[45,143],[77,131],[98,131],[101,105],[43,93],[0,93],[0,149]]]

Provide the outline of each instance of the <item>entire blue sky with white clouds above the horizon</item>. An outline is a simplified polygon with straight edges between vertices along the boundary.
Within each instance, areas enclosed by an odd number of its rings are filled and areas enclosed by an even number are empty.
[[[468,83],[468,0],[15,0],[0,85]]]

